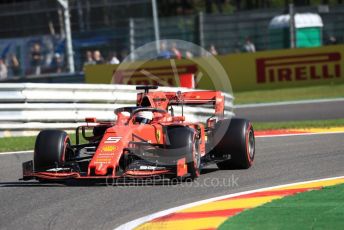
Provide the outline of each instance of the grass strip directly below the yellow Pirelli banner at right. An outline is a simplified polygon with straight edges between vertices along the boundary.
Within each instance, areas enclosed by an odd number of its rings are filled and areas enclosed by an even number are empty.
[[[344,84],[234,92],[235,104],[344,97]]]

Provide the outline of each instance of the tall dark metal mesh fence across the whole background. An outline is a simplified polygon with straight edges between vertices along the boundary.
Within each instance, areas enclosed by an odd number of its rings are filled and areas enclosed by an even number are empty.
[[[42,3],[43,2],[43,3]],[[154,41],[150,0],[71,0],[71,20],[76,70],[82,71],[87,51],[100,50],[105,61],[116,55],[120,60],[130,51]],[[329,6],[328,12],[318,7],[298,7],[296,12],[319,13],[322,17],[323,44],[329,37],[344,42],[344,6]],[[251,10],[234,14],[196,14],[160,18],[161,39],[181,39],[208,49],[215,45],[219,54],[243,51],[245,38],[250,37],[256,50],[274,47],[269,34],[270,20],[285,10]],[[9,67],[9,77],[18,75],[11,69],[11,56],[20,62],[20,76],[34,73],[32,46],[42,48],[42,73],[57,71],[55,58],[62,59],[65,71],[64,31],[61,9],[56,0],[30,1],[0,6],[0,55]],[[5,38],[6,36],[31,37]],[[44,34],[44,36],[42,36]],[[333,41],[332,41],[333,42]]]

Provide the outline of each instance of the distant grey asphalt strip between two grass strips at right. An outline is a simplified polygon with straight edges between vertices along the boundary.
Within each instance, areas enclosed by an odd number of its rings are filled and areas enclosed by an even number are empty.
[[[240,106],[234,109],[234,113],[238,117],[262,122],[338,119],[344,118],[344,100]]]

